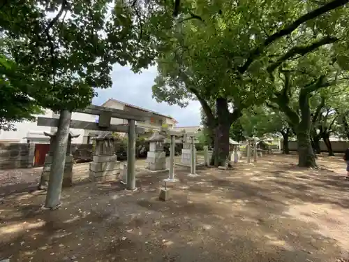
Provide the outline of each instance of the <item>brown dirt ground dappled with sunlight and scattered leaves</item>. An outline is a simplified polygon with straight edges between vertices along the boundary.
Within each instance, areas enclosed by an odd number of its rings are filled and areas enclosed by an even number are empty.
[[[320,157],[320,170],[295,163],[273,155],[199,177],[177,168],[168,202],[158,201],[167,173],[138,174],[135,192],[77,182],[54,211],[40,209],[44,192],[8,194],[0,260],[334,262],[349,249],[343,161]]]

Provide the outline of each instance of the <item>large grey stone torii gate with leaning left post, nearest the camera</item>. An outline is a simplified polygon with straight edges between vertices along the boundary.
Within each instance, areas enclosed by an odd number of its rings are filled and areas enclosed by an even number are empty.
[[[61,110],[59,119],[38,117],[38,126],[57,126],[54,148],[52,150],[52,162],[50,168],[50,180],[48,182],[45,201],[46,208],[56,208],[60,205],[61,187],[66,161],[66,149],[68,144],[69,129],[87,129],[109,132],[128,133],[128,156],[127,156],[127,184],[126,189],[135,189],[135,138],[136,133],[144,133],[144,129],[135,126],[135,121],[144,121],[151,117],[151,112],[127,112],[124,110],[105,108],[98,105],[89,105],[85,109],[75,110],[89,115],[98,115],[98,123],[80,120],[71,120],[71,112]],[[111,124],[111,118],[127,119],[128,126]],[[109,138],[107,138],[109,139]]]

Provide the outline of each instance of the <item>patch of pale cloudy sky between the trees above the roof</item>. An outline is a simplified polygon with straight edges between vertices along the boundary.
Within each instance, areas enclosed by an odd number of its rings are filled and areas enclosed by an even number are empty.
[[[155,99],[151,98],[154,78],[156,78],[156,67],[135,74],[127,66],[115,65],[112,71],[112,88],[98,89],[98,97],[94,98],[93,103],[101,105],[108,99],[117,99],[163,115],[171,115],[178,121],[177,126],[200,125],[201,106],[198,101],[191,101],[186,108],[179,108],[168,103],[156,103]]]

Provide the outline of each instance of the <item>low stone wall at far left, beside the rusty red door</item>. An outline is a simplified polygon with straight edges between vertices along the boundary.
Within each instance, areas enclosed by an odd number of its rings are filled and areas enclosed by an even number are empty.
[[[0,143],[0,169],[31,168],[34,151],[34,144]]]

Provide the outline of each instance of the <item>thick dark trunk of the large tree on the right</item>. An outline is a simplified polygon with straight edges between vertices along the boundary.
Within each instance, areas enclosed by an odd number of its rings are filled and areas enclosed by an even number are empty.
[[[298,166],[314,168],[316,167],[316,162],[310,138],[311,115],[309,93],[301,92],[299,94],[299,108],[301,110],[302,120],[298,124],[296,130],[298,140]]]

